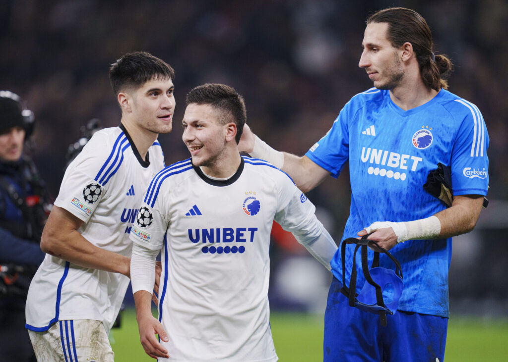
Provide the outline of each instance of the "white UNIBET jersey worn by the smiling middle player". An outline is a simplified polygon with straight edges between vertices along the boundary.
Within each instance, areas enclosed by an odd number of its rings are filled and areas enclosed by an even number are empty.
[[[190,159],[154,177],[130,237],[161,250],[158,311],[171,360],[277,360],[270,231],[275,220],[315,238],[324,229],[314,211],[287,174],[259,159],[243,157],[227,180],[207,177]]]

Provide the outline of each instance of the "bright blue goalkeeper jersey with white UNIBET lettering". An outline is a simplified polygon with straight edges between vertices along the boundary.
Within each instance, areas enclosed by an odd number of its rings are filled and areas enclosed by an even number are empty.
[[[376,221],[418,220],[446,208],[423,189],[428,173],[439,162],[452,168],[455,196],[487,195],[488,146],[487,129],[474,104],[441,89],[429,102],[404,111],[391,100],[389,91],[372,88],[346,103],[330,131],[306,156],[334,177],[346,161],[350,163],[352,194],[345,239],[357,237]],[[347,285],[353,251],[354,245],[347,245]],[[408,240],[390,252],[403,272],[398,309],[448,317],[451,238]],[[373,252],[369,253],[370,265]],[[360,252],[356,262],[357,285],[362,286]],[[341,281],[338,263],[332,266]],[[380,266],[395,268],[383,254]],[[358,293],[360,290],[357,288]]]

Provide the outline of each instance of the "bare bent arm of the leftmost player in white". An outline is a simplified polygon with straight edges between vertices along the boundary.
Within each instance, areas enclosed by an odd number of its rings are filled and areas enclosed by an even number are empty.
[[[42,232],[42,251],[85,268],[106,270],[130,277],[130,258],[90,243],[78,232],[82,224],[83,222],[69,211],[53,206]]]

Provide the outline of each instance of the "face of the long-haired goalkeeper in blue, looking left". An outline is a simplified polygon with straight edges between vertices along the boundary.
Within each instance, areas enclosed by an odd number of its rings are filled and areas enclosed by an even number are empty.
[[[401,50],[387,39],[388,23],[369,23],[362,42],[358,66],[364,68],[377,89],[393,90],[404,79]]]

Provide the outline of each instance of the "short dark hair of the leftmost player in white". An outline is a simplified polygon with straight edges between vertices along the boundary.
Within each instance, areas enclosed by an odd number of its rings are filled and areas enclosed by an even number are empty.
[[[126,88],[138,88],[153,79],[174,78],[175,71],[171,65],[147,52],[127,53],[109,68],[109,81],[116,95]]]

